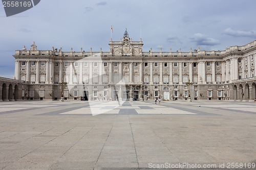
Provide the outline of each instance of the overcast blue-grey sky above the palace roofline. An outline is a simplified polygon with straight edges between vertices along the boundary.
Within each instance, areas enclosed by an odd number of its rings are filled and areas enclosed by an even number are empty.
[[[6,17],[0,7],[0,77],[13,78],[15,50],[109,51],[111,38],[142,37],[143,51],[224,50],[256,40],[255,0],[42,0]],[[141,31],[140,31],[141,30]]]

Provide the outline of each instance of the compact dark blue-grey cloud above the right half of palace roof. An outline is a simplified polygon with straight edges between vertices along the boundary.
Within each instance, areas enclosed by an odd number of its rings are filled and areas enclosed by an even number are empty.
[[[190,38],[192,42],[196,42],[197,45],[218,45],[220,41],[214,38],[209,38],[204,34],[197,33],[194,34],[193,37]]]

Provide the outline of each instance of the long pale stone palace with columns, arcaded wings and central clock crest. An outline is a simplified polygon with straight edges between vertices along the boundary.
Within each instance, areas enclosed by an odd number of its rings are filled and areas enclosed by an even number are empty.
[[[109,52],[15,51],[15,77],[0,78],[1,101],[254,100],[256,41],[224,51],[149,52],[127,31]]]

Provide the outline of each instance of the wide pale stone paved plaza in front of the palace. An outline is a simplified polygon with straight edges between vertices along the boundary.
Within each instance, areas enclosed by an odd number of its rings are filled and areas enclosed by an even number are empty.
[[[0,102],[0,169],[253,169],[255,162],[253,102]]]

